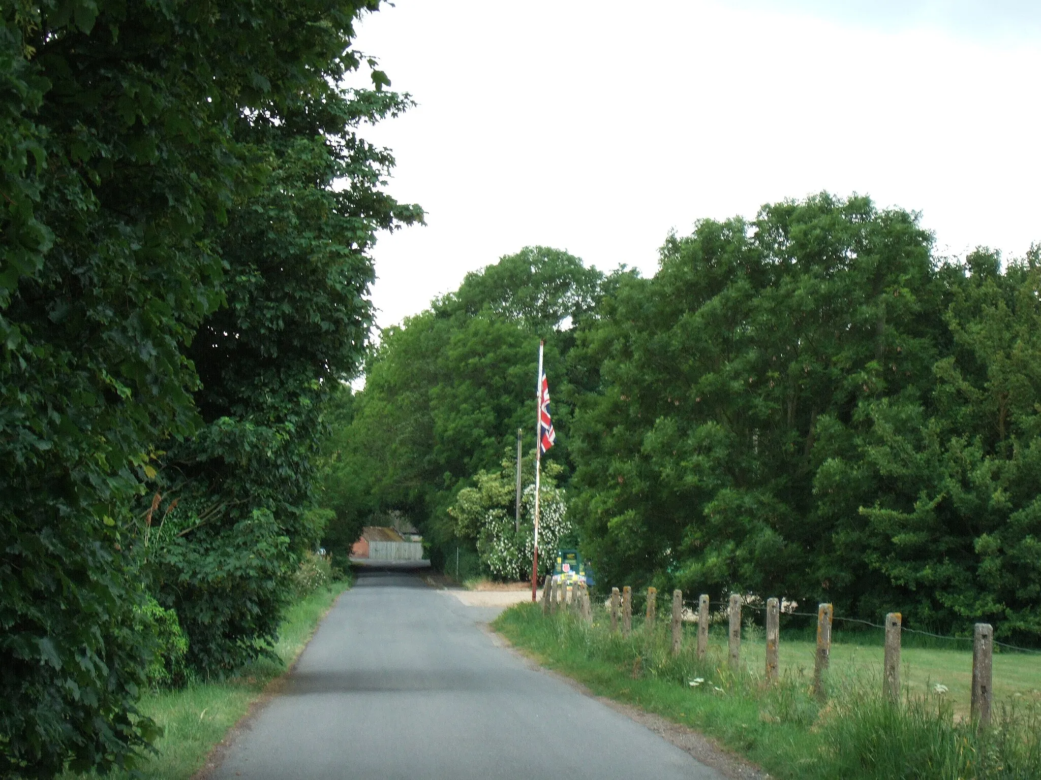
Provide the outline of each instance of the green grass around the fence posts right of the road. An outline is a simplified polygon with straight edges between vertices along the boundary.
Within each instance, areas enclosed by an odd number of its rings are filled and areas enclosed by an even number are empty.
[[[603,609],[593,615],[587,626],[569,615],[544,618],[540,607],[522,604],[504,612],[494,627],[593,693],[714,736],[778,778],[1041,777],[1041,699],[1033,688],[996,702],[992,728],[977,732],[956,716],[949,694],[926,694],[918,682],[930,679],[930,670],[937,672],[932,679],[940,681],[942,673],[953,682],[950,675],[966,658],[971,667],[968,653],[909,649],[905,676],[912,683],[893,706],[882,697],[874,670],[881,648],[836,645],[830,699],[821,702],[809,691],[809,656],[801,655],[809,643],[786,645],[782,635],[782,679],[765,685],[759,643],[745,643],[747,670],[733,674],[720,636],[713,638],[705,660],[694,657],[690,642],[672,658],[663,625],[650,641],[642,628],[624,639],[609,632]],[[1036,684],[1036,665],[1016,670]],[[689,684],[697,679],[703,681],[696,686]]]

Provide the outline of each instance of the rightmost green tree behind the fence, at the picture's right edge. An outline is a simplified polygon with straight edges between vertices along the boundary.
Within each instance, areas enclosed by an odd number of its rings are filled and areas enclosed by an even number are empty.
[[[995,625],[1041,638],[1041,265],[994,253],[942,269],[947,348],[920,395],[877,398],[853,435],[828,428],[815,475],[839,578],[860,561],[867,595],[939,628]]]

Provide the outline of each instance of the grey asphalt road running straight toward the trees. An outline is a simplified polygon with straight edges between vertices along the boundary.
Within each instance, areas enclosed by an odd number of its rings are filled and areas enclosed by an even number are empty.
[[[720,780],[499,646],[479,625],[498,612],[363,572],[213,776]]]

